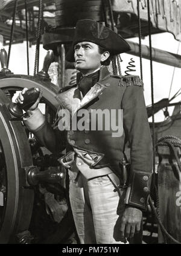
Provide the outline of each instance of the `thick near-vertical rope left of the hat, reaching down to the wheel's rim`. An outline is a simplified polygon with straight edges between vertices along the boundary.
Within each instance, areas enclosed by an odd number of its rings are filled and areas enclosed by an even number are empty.
[[[39,0],[39,18],[38,18],[37,37],[36,37],[36,53],[35,53],[35,60],[34,60],[34,75],[36,75],[36,72],[38,72],[38,70],[39,70],[41,21],[42,21],[42,0]]]

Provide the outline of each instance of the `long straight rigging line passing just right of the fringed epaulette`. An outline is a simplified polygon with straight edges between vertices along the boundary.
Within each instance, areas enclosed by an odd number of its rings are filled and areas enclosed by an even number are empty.
[[[151,19],[150,19],[150,0],[147,0],[148,11],[148,35],[150,50],[150,76],[151,76],[151,110],[152,110],[152,133],[153,133],[153,185],[155,187],[155,134],[154,134],[154,88],[153,88],[153,59],[151,48]]]

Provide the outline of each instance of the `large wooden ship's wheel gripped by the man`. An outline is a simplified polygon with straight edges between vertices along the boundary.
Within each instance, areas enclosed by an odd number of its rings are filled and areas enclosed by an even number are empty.
[[[29,232],[30,226],[34,226],[32,216],[37,191],[27,182],[27,171],[33,166],[32,150],[21,120],[13,118],[7,108],[13,95],[25,87],[42,90],[40,103],[48,107],[51,119],[59,106],[55,98],[59,88],[45,78],[0,73],[0,243],[65,243],[73,233],[68,211],[60,223],[53,222],[54,230],[49,238],[42,235],[33,240]],[[46,225],[44,219],[42,225]],[[51,220],[48,222],[52,225]]]

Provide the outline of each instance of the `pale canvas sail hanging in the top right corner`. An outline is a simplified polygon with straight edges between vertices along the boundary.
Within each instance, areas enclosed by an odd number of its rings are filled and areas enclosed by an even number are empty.
[[[140,18],[148,20],[147,0],[140,1]],[[138,14],[136,0],[112,0],[113,11]],[[181,0],[150,0],[153,27],[172,33],[181,41]]]

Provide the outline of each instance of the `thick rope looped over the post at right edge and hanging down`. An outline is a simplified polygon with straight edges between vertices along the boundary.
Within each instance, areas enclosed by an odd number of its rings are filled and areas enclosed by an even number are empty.
[[[179,147],[181,149],[181,139],[172,136],[172,135],[167,135],[167,136],[163,136],[162,138],[160,138],[157,143],[156,143],[156,147],[157,146],[169,146],[171,147],[171,149],[174,152],[174,156],[176,158],[179,170],[181,172],[181,162],[179,157],[177,156],[176,150],[174,149],[174,147]],[[155,187],[156,188],[156,187]],[[174,237],[172,237],[167,230],[165,229],[162,221],[160,220],[160,214],[159,214],[159,196],[158,196],[158,192],[156,189],[156,200],[157,200],[157,211],[154,208],[154,204],[151,200],[151,197],[148,197],[148,202],[150,203],[151,206],[151,210],[153,211],[154,216],[156,217],[157,223],[160,226],[160,229],[162,231],[162,234],[164,235],[164,240],[165,242],[167,242],[167,238],[170,239],[173,243],[177,243],[177,244],[181,244],[178,240],[176,240]]]

